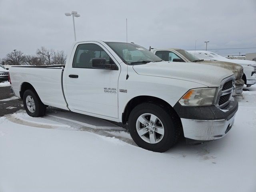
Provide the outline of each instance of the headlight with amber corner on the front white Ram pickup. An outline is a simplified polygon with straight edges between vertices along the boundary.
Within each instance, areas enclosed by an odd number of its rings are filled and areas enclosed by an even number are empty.
[[[190,89],[179,103],[183,106],[209,106],[214,104],[217,88]]]

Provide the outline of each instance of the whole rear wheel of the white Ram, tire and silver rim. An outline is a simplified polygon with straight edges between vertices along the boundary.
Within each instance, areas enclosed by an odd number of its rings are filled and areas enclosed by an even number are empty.
[[[40,117],[45,114],[46,106],[33,90],[26,90],[23,95],[24,108],[29,116]]]

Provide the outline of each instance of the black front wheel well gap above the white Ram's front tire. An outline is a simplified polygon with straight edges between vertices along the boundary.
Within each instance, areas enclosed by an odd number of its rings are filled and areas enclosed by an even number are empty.
[[[130,116],[130,112],[132,111],[132,109],[134,107],[136,107],[138,104],[146,103],[146,102],[158,104],[164,108],[167,108],[168,111],[170,113],[172,113],[174,115],[174,117],[179,121],[181,129],[182,129],[182,123],[181,123],[180,117],[178,116],[178,114],[174,110],[174,108],[172,108],[172,106],[168,102],[166,102],[160,98],[153,97],[153,96],[137,96],[135,98],[132,98],[126,105],[126,108],[122,114],[122,123],[126,124],[126,122],[128,121],[128,118]]]

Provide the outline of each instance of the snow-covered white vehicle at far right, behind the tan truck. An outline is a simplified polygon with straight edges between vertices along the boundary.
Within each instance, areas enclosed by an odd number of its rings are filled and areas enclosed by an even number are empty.
[[[189,51],[191,54],[195,54],[196,57],[204,60],[215,60],[215,61],[225,61],[240,64],[244,67],[244,74],[242,80],[247,87],[252,86],[256,83],[256,62],[240,59],[228,59],[222,57],[214,52],[210,51]]]

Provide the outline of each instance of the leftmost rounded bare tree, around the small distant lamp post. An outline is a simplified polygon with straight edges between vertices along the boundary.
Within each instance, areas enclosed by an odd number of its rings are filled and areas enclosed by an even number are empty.
[[[21,51],[16,51],[16,53],[10,52],[2,60],[5,65],[22,65],[25,63],[25,56]]]

